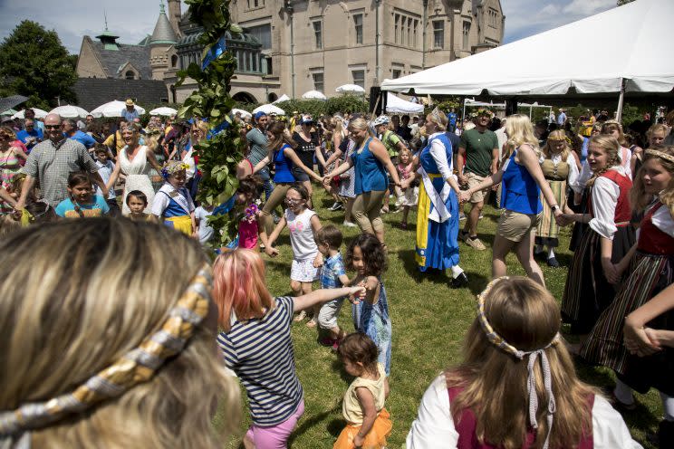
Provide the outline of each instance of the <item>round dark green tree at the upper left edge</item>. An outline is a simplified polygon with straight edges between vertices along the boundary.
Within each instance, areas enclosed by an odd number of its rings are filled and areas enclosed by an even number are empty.
[[[51,109],[75,102],[72,56],[55,31],[24,20],[0,45],[0,95],[24,95],[28,106]]]

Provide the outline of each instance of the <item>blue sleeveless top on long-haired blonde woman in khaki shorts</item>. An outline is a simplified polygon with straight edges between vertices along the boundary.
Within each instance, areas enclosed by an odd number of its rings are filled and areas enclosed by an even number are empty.
[[[508,159],[503,173],[501,187],[501,207],[526,215],[537,215],[543,210],[541,188],[526,167],[515,162],[517,150]]]

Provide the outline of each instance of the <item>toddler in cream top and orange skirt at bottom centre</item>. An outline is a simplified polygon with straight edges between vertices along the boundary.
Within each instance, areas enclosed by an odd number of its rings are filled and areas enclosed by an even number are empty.
[[[339,355],[346,372],[356,379],[344,394],[342,415],[347,425],[332,449],[384,448],[393,425],[384,408],[389,380],[377,362],[377,346],[370,337],[356,332],[342,339]]]

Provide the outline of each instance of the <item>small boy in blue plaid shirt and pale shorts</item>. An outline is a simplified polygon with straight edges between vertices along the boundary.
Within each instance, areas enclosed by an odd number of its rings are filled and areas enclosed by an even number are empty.
[[[342,232],[337,227],[329,224],[319,229],[315,234],[318,251],[323,254],[323,268],[321,269],[321,288],[338,289],[349,285],[349,277],[346,275],[344,262],[342,261]],[[330,332],[328,339],[323,339],[322,343],[326,346],[332,346],[337,350],[340,346],[340,340],[346,335],[344,330],[337,325],[337,317],[342,309],[344,298],[337,298],[323,304],[318,312],[318,325],[323,330]]]

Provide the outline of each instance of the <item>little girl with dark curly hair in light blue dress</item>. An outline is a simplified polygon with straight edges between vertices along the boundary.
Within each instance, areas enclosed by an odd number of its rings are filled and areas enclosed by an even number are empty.
[[[346,252],[346,267],[358,272],[351,285],[365,287],[365,298],[353,303],[353,327],[377,345],[379,362],[390,375],[391,325],[389,301],[381,274],[386,270],[386,254],[374,234],[361,234],[351,241]]]

